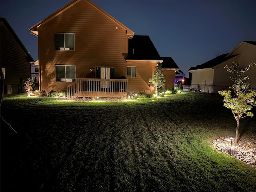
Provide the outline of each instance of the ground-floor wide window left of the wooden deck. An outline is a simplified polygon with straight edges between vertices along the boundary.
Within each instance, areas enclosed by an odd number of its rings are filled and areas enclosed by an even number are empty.
[[[72,82],[76,80],[76,66],[74,65],[56,65],[56,81]]]

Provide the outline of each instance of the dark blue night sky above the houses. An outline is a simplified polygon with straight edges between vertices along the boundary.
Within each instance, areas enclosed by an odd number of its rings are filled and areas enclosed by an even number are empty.
[[[32,58],[37,37],[28,28],[70,0],[0,0],[6,18]],[[232,51],[242,41],[256,41],[256,1],[92,0],[135,35],[148,35],[161,57],[188,69]]]

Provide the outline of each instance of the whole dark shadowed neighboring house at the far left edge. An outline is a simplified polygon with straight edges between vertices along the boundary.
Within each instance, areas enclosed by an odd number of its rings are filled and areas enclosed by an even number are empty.
[[[1,18],[0,42],[4,93],[25,92],[22,83],[31,77],[30,64],[34,60],[5,18]]]

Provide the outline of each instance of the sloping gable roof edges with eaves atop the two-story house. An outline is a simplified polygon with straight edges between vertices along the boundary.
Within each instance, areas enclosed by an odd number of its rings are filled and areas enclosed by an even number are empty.
[[[70,7],[74,6],[75,4],[77,4],[80,1],[86,1],[88,2],[91,6],[93,6],[94,8],[96,8],[97,10],[99,10],[100,12],[102,12],[104,15],[106,15],[108,18],[110,18],[112,21],[116,22],[118,25],[120,25],[122,28],[124,28],[125,30],[127,30],[127,34],[128,36],[133,36],[134,32],[132,30],[130,30],[128,27],[124,26],[124,24],[122,24],[121,22],[119,22],[118,20],[116,20],[114,17],[112,17],[110,14],[108,14],[107,12],[105,12],[102,8],[100,8],[99,6],[97,6],[96,4],[94,4],[92,1],[90,0],[72,0],[70,3],[68,3],[66,6],[60,8],[59,10],[57,10],[56,12],[54,12],[53,14],[51,14],[50,16],[46,17],[44,20],[38,22],[37,24],[35,24],[34,26],[32,26],[31,28],[29,28],[28,30],[30,30],[30,33],[38,36],[38,31],[37,28],[44,25],[45,23],[47,23],[48,21],[52,20],[54,17],[58,16],[59,14],[63,13],[64,11],[66,11],[67,9],[69,9]]]

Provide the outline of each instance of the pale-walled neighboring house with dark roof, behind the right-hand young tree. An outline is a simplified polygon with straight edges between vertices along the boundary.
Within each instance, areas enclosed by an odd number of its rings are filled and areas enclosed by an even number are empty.
[[[242,41],[230,53],[220,55],[204,64],[191,67],[188,71],[192,73],[191,88],[201,92],[216,93],[219,90],[227,90],[233,82],[230,80],[232,73],[227,72],[226,65],[238,62],[240,66],[248,66],[256,63],[256,42]],[[256,66],[252,66],[246,75],[253,89],[256,89]]]

